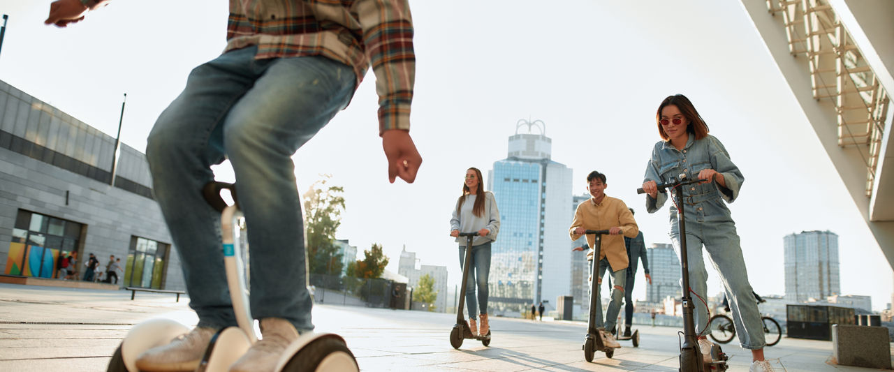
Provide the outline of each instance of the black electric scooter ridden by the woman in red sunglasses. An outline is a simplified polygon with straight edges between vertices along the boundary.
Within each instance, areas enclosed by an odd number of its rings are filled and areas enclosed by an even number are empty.
[[[683,199],[683,188],[681,186],[703,182],[704,180],[686,180],[686,173],[682,173],[679,175],[677,180],[667,183],[658,183],[656,186],[658,187],[659,192],[667,192],[667,189],[670,188],[671,191],[674,192],[674,195],[669,196],[671,200],[676,199],[679,202],[682,202]],[[637,189],[637,194],[644,194],[645,190],[642,188]],[[679,204],[675,201],[674,203],[677,206],[677,218],[679,220],[679,258],[680,258],[680,267],[683,272],[683,343],[679,347],[679,371],[680,372],[704,372],[704,371],[713,371],[713,372],[722,372],[727,369],[727,359],[730,359],[726,353],[721,351],[721,347],[718,344],[713,344],[711,347],[711,361],[705,362],[702,359],[702,351],[698,347],[698,335],[696,334],[696,325],[695,320],[693,318],[693,311],[696,306],[692,302],[692,297],[689,296],[689,261],[687,260],[687,250],[686,250],[686,218],[683,216],[684,208],[679,207]]]

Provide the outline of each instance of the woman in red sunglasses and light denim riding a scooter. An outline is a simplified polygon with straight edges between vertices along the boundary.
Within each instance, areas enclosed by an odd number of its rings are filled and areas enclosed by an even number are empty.
[[[680,174],[686,179],[704,182],[683,187],[683,200],[671,200],[671,241],[679,255],[680,236],[677,208],[683,207],[686,216],[686,243],[691,291],[699,299],[706,299],[707,271],[704,269],[703,247],[711,258],[721,282],[730,298],[730,308],[740,345],[751,350],[752,372],[771,372],[772,366],[763,359],[763,325],[757,301],[751,295],[745,259],[739,246],[736,224],[730,209],[724,204],[738,197],[745,180],[738,167],[730,161],[730,154],[719,139],[708,134],[708,125],[696,107],[681,94],[664,98],[655,114],[658,134],[662,140],[652,149],[652,159],[645,167],[645,207],[649,213],[660,209],[668,193],[659,193],[656,182],[671,182]],[[702,300],[696,305],[696,332],[702,334],[708,324],[707,308]],[[712,343],[706,335],[698,336],[704,359],[711,359]]]

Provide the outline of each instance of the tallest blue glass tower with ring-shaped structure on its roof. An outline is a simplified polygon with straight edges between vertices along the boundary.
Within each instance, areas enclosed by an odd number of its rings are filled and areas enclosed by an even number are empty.
[[[519,133],[523,126],[527,133]],[[544,122],[519,120],[509,155],[488,173],[501,218],[489,279],[488,307],[496,314],[516,315],[542,300],[555,309],[556,298],[571,292],[571,169],[552,161],[545,133]]]

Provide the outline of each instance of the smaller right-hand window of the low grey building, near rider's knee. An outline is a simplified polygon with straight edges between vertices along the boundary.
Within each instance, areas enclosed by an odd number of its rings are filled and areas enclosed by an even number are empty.
[[[162,289],[170,244],[131,236],[124,268],[124,286]]]

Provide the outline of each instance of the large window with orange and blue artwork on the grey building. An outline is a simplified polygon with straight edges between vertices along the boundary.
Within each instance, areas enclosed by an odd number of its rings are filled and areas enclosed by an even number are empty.
[[[57,277],[60,258],[78,249],[83,228],[83,224],[19,209],[4,273]]]

